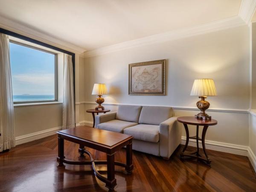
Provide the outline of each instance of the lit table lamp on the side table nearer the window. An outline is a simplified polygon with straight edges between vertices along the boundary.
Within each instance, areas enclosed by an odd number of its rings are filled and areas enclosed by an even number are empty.
[[[106,95],[107,94],[107,89],[106,89],[106,85],[105,84],[101,84],[101,83],[95,83],[93,85],[93,92],[92,95],[98,95],[98,97],[96,98],[95,102],[98,103],[99,105],[95,108],[95,110],[104,110],[104,107],[101,105],[104,102],[104,98],[102,97],[102,95]]]

